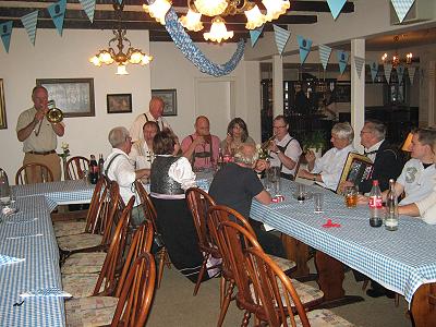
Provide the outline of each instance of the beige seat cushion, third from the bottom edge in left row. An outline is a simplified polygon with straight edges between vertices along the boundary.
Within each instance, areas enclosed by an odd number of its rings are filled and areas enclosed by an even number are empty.
[[[74,253],[63,263],[62,275],[69,274],[98,274],[101,271],[107,253],[89,252]]]

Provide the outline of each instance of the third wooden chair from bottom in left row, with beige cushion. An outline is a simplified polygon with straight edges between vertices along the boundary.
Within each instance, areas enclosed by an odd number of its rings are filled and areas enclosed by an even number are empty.
[[[63,290],[71,293],[73,298],[112,295],[114,293],[117,287],[117,267],[120,266],[123,255],[126,230],[134,202],[134,197],[132,196],[122,213],[122,218],[117,225],[101,271],[98,275],[78,272],[62,276]]]

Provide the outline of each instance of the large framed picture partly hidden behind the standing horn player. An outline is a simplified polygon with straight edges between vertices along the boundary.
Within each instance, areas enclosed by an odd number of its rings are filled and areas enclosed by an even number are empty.
[[[37,78],[49,100],[68,117],[95,117],[94,78]]]

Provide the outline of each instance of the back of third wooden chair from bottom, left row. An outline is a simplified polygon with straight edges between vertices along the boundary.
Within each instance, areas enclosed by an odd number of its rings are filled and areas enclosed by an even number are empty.
[[[125,206],[121,215],[119,223],[117,225],[113,238],[109,245],[108,254],[106,255],[105,263],[98,276],[98,280],[94,289],[93,296],[112,295],[113,292],[116,291],[117,267],[120,266],[120,262],[122,261],[123,247],[125,245],[128,227],[130,223],[130,217],[134,203],[135,198],[132,196],[132,198],[129,201],[129,204]],[[104,286],[102,291],[101,291],[101,286]]]

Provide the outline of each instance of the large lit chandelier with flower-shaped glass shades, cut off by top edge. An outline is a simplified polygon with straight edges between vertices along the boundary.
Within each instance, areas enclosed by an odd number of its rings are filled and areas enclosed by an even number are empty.
[[[277,20],[290,8],[289,0],[262,0],[266,9],[263,14],[256,3],[250,0],[186,0],[187,13],[179,19],[184,28],[198,32],[204,28],[202,15],[211,20],[210,31],[203,34],[206,40],[220,43],[233,37],[233,31],[227,31],[225,16],[244,13],[246,29],[261,27],[266,22]],[[165,15],[171,8],[170,0],[155,0],[143,4],[145,12],[165,25]]]

